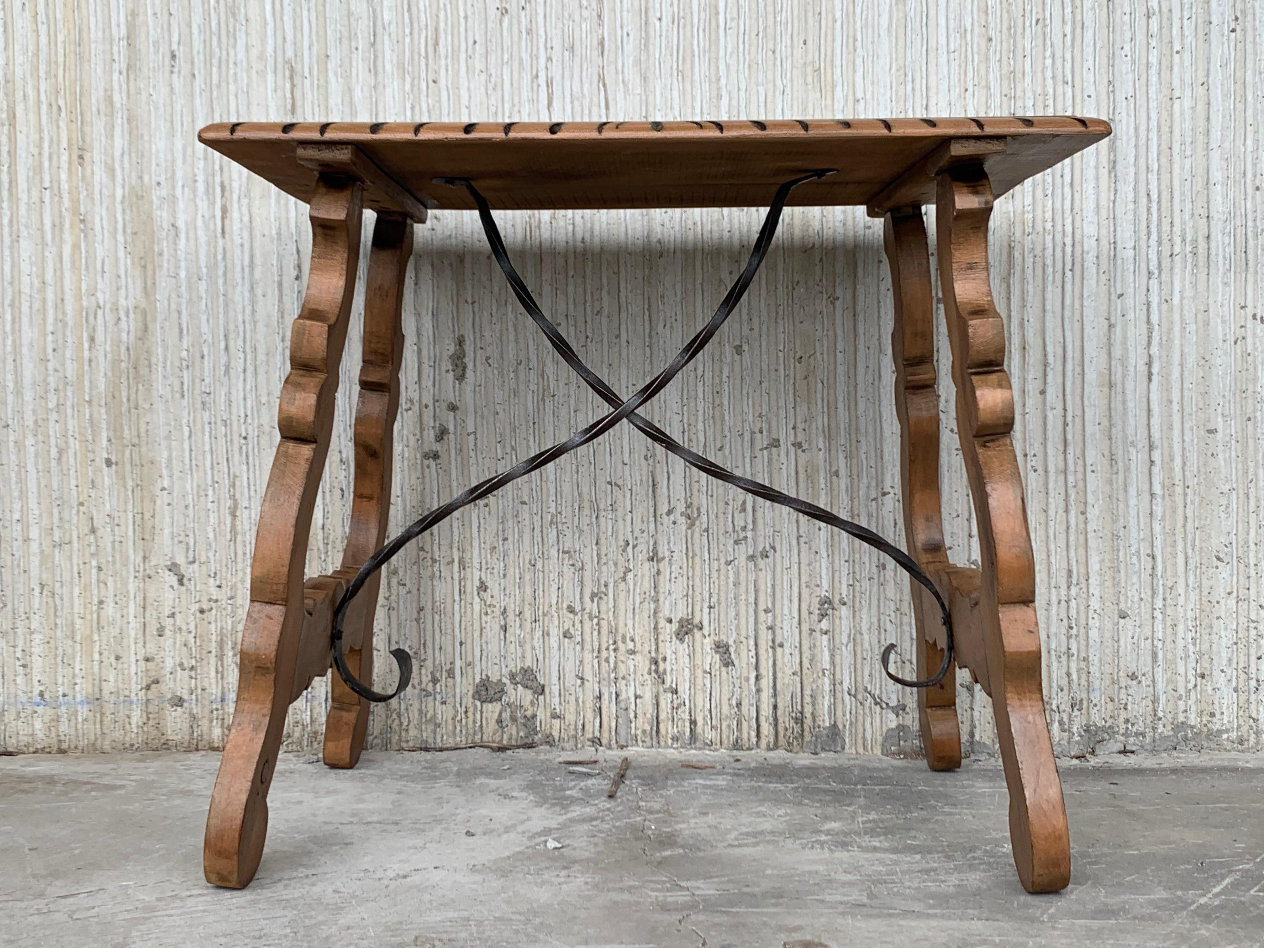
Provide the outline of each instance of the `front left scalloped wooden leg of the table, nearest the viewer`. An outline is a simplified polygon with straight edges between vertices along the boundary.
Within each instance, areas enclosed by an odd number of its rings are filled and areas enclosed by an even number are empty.
[[[236,707],[202,849],[206,880],[231,889],[249,885],[263,856],[268,786],[286,708],[295,696],[306,618],[307,537],[334,422],[359,262],[360,210],[358,182],[320,179],[311,201],[307,293],[291,330],[289,374],[281,389],[281,445],[268,475],[250,566]]]

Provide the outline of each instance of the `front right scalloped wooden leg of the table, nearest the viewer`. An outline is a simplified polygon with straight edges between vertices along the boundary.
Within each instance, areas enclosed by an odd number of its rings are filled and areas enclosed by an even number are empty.
[[[971,594],[977,603],[973,624],[982,638],[1010,790],[1014,862],[1029,892],[1053,892],[1071,881],[1071,841],[1044,715],[1035,562],[1010,439],[1014,393],[1005,372],[1005,325],[988,282],[992,186],[983,168],[959,166],[940,174],[935,209],[957,426],[982,560],[978,589]]]

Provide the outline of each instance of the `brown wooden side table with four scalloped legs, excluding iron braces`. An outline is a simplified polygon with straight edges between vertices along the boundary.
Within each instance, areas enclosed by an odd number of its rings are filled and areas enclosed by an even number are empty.
[[[951,605],[956,664],[992,698],[1010,836],[1023,886],[1063,889],[1071,847],[1044,715],[1035,568],[1018,458],[1005,325],[992,303],[987,224],[996,196],[1110,134],[1100,119],[863,119],[621,123],[234,123],[202,143],[311,206],[307,293],[293,322],[281,392],[281,444],[268,478],[241,637],[236,708],[211,798],[206,878],[243,887],[268,827],[268,787],[286,708],[330,667],[334,604],[386,538],[392,428],[399,401],[401,303],[413,224],[427,210],[471,210],[474,181],[494,209],[763,206],[777,185],[815,168],[791,205],[860,205],[885,217],[895,288],[895,396],[910,555]],[[939,512],[939,399],[923,205],[938,220],[939,278],[952,341],[957,423],[978,518],[981,569],[954,566]],[[360,217],[377,212],[355,412],[351,523],[341,566],[305,578],[316,489],[329,450],[350,320]],[[372,675],[377,580],[344,624],[348,664]],[[913,584],[918,674],[944,656],[938,607]],[[335,674],[325,762],[354,767],[368,703]],[[956,674],[918,691],[933,770],[961,765]]]

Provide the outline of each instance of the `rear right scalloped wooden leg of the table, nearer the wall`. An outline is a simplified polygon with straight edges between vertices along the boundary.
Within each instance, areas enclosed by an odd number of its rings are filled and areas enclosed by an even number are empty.
[[[939,514],[939,393],[935,389],[934,295],[921,207],[886,215],[886,259],[895,291],[895,411],[900,416],[900,477],[904,483],[904,533],[909,555],[944,592],[948,568]],[[939,608],[919,583],[913,589],[918,623],[918,678],[930,678],[945,647]],[[921,744],[930,770],[961,766],[957,722],[957,669],[933,688],[918,689]]]

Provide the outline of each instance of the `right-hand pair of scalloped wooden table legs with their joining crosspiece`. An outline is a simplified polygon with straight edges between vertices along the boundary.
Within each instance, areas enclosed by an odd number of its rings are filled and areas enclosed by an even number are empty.
[[[987,224],[992,190],[977,161],[944,169],[935,198],[939,279],[952,343],[957,427],[978,522],[982,569],[948,562],[939,513],[938,396],[930,327],[930,277],[920,207],[886,215],[896,295],[896,404],[902,431],[909,550],[952,607],[956,664],[992,698],[1005,780],[1010,839],[1029,892],[1071,881],[1071,842],[1062,784],[1045,720],[1035,565],[1023,478],[1010,434],[1014,396],[1005,370],[1005,325],[992,302]],[[914,590],[918,674],[943,656],[943,631],[929,597]],[[961,762],[953,675],[921,689],[923,743],[933,770]]]

